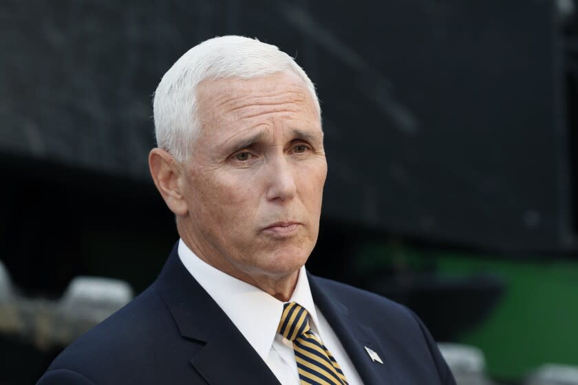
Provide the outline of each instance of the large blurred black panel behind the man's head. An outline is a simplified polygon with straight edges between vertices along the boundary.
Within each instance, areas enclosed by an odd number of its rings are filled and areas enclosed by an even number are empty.
[[[257,36],[317,83],[325,217],[434,241],[565,249],[553,3],[8,1],[0,148],[147,179],[162,74],[211,36]]]

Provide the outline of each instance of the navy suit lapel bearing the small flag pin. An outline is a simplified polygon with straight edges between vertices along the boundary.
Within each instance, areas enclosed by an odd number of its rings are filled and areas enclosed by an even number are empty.
[[[390,367],[396,360],[388,360],[392,352],[383,349],[376,333],[365,322],[350,314],[347,306],[339,298],[325,294],[317,277],[308,274],[308,281],[315,305],[330,323],[336,336],[349,355],[364,384],[396,384],[396,369]],[[384,325],[385,327],[385,325]],[[374,362],[365,350],[372,349],[383,360],[383,364]]]

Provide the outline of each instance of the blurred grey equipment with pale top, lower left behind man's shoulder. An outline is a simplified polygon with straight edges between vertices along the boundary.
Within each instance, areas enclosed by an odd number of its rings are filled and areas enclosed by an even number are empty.
[[[30,298],[0,261],[0,384],[34,384],[61,349],[133,298],[109,278],[74,278],[60,300]]]

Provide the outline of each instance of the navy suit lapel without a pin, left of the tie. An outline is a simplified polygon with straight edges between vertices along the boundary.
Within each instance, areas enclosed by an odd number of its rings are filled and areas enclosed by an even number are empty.
[[[204,344],[186,359],[208,384],[279,384],[224,311],[186,271],[177,246],[157,283],[182,338],[189,340],[186,343]]]

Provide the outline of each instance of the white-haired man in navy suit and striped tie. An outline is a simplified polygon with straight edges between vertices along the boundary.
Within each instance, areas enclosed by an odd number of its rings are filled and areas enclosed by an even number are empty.
[[[149,166],[180,241],[39,384],[454,384],[411,311],[306,272],[327,164],[290,56],[205,41],[163,76],[154,117]]]

